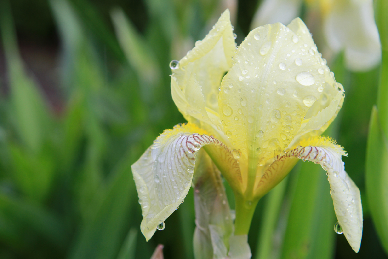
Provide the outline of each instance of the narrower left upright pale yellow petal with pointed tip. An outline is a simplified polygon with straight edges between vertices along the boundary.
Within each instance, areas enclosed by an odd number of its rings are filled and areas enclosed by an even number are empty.
[[[172,98],[185,119],[219,138],[224,134],[218,116],[218,88],[236,51],[229,16],[229,10],[225,10],[213,29],[196,42],[171,75]]]

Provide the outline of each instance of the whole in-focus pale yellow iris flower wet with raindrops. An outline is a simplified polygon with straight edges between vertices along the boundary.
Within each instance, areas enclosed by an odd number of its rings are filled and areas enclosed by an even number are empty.
[[[171,64],[173,101],[188,123],[165,130],[132,165],[145,238],[183,202],[204,147],[235,193],[235,236],[248,234],[258,200],[303,159],[327,171],[338,222],[358,252],[360,191],[343,148],[320,136],[344,90],[303,21],[258,27],[236,48],[226,10],[195,45]]]

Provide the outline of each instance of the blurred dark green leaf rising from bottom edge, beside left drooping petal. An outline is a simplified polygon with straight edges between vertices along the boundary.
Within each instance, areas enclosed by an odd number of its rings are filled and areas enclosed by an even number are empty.
[[[133,155],[124,156],[116,168],[99,210],[85,221],[69,256],[71,259],[113,258],[127,225],[133,196],[136,196],[130,165]]]

